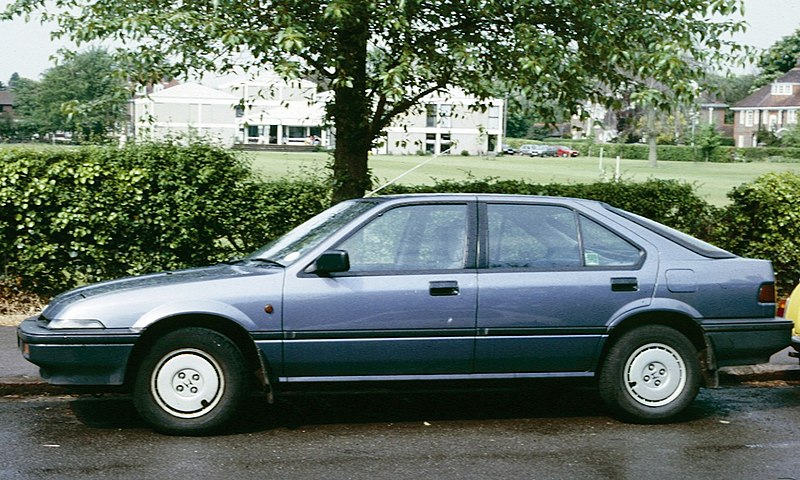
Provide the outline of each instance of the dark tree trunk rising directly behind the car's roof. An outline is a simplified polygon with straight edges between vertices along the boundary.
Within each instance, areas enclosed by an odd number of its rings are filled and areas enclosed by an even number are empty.
[[[364,196],[371,180],[367,167],[371,108],[366,92],[369,16],[364,2],[354,1],[336,32],[334,102],[329,113],[336,128],[333,154],[333,203]]]

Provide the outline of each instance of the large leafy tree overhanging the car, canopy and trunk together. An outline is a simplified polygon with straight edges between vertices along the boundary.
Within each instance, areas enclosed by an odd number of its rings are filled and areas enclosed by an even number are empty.
[[[693,95],[710,65],[734,59],[726,39],[744,27],[725,18],[741,8],[741,0],[17,0],[5,16],[38,12],[78,44],[116,40],[139,81],[242,67],[315,79],[334,93],[327,113],[340,200],[369,187],[367,152],[381,132],[448,87],[496,98],[502,79],[541,118],[585,101],[614,106],[622,92],[650,104]]]

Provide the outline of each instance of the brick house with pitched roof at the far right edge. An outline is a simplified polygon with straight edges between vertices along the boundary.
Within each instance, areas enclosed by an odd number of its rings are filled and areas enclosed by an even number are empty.
[[[800,62],[774,82],[737,102],[733,138],[737,147],[755,147],[757,133],[766,130],[778,137],[797,124],[800,111]]]

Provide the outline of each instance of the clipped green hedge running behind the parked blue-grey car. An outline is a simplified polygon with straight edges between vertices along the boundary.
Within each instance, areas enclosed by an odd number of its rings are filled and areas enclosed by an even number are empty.
[[[394,185],[384,193],[485,192],[591,198],[732,252],[772,260],[779,287],[800,279],[800,177],[767,175],[717,209],[692,185]],[[321,181],[262,182],[234,153],[204,145],[11,149],[0,153],[0,284],[52,294],[88,282],[240,256],[329,204]]]

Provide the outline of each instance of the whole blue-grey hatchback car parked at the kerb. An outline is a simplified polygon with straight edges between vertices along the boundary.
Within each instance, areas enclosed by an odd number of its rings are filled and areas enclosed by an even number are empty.
[[[674,419],[723,366],[789,345],[769,262],[596,201],[347,201],[246,258],[63,293],[18,330],[59,385],[123,386],[172,434],[309,384],[593,377]],[[473,382],[469,383],[474,385]]]

